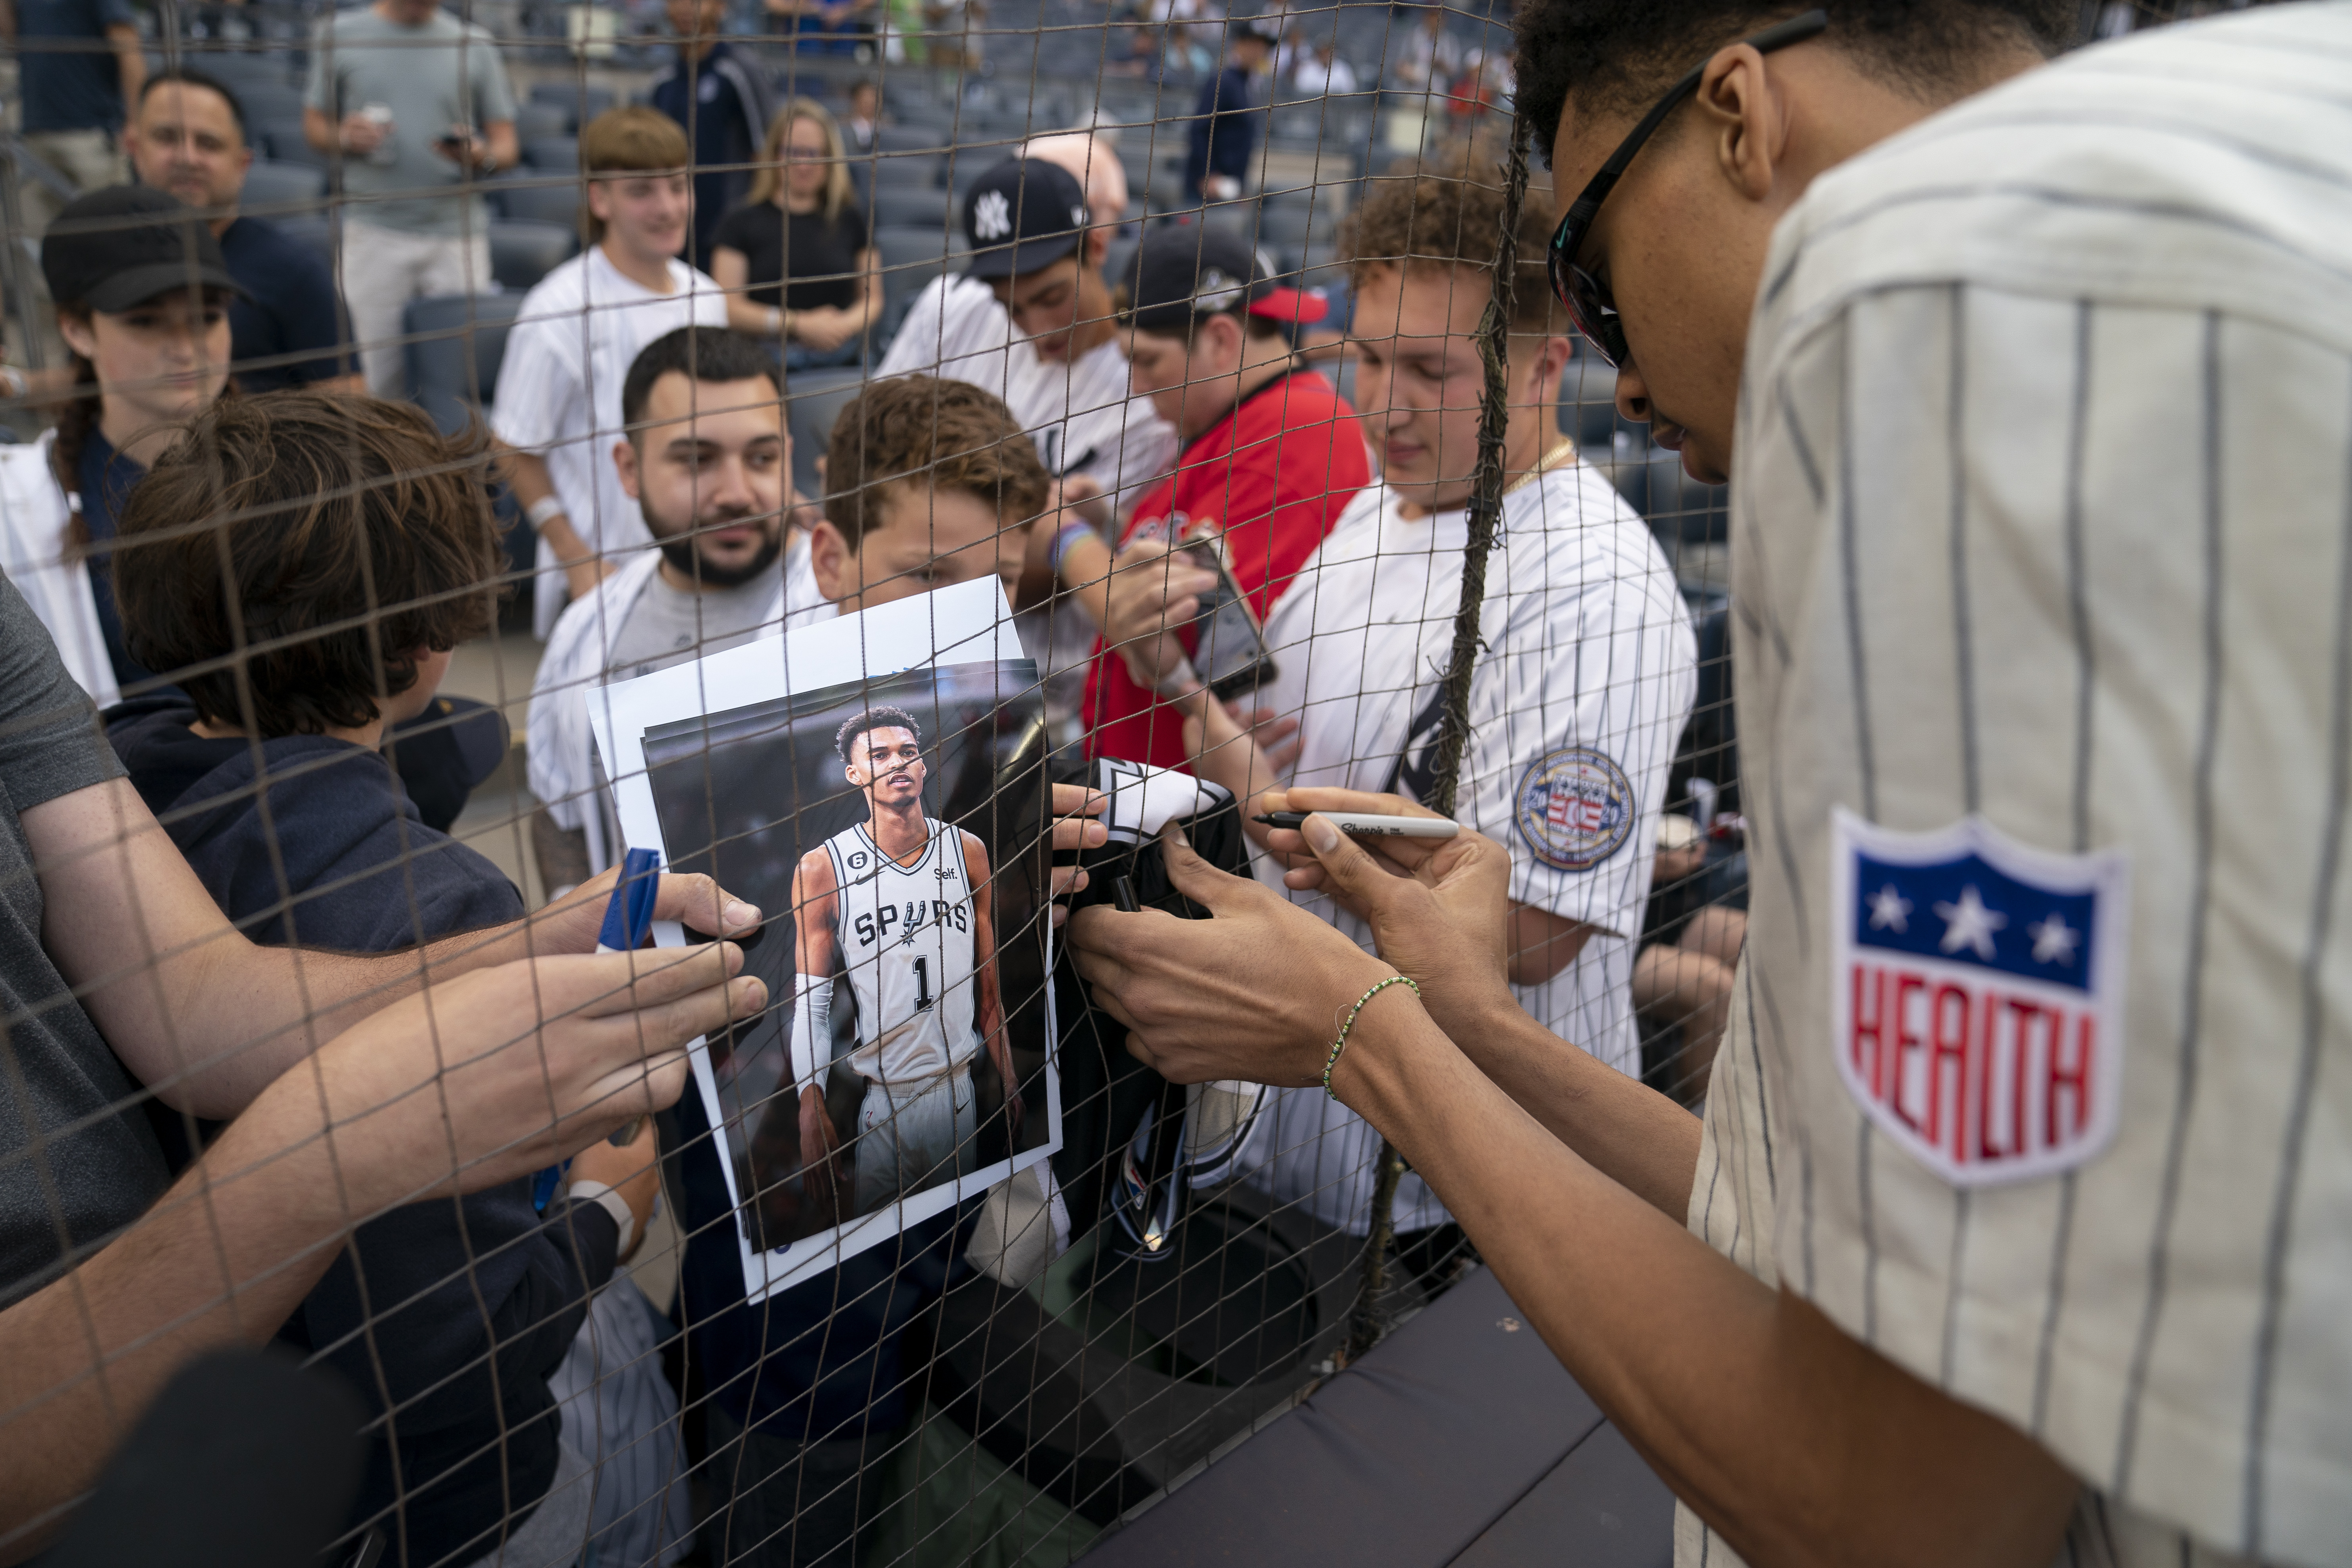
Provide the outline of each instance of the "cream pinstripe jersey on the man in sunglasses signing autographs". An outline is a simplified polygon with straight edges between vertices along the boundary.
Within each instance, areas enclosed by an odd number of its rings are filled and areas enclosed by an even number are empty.
[[[1750,324],[1691,1227],[2084,1476],[2063,1561],[2352,1561],[2347,66],[2281,5],[2034,71],[1820,176]],[[2105,1147],[1955,1185],[1865,1112],[1839,809],[2129,860]]]

